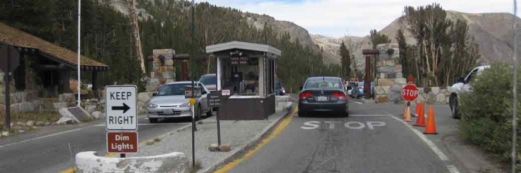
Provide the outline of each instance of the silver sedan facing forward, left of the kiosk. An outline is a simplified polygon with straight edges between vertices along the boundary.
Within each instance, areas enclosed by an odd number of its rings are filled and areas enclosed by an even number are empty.
[[[191,81],[173,82],[163,86],[148,100],[147,116],[150,123],[156,123],[159,118],[192,117],[188,99],[184,98],[184,86],[192,85]],[[200,118],[202,113],[211,116],[206,95],[208,89],[200,82],[195,85],[201,87],[201,97],[195,99],[195,117]]]

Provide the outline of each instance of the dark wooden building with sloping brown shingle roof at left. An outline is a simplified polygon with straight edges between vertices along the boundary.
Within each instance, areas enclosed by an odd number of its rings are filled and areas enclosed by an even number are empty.
[[[49,43],[39,37],[0,23],[0,44],[14,46],[20,55],[19,66],[14,72],[17,91],[39,90],[39,97],[57,97],[73,92],[70,79],[76,79],[77,53]],[[5,63],[5,62],[0,62]],[[80,70],[92,73],[92,89],[97,91],[98,72],[108,66],[81,56]]]

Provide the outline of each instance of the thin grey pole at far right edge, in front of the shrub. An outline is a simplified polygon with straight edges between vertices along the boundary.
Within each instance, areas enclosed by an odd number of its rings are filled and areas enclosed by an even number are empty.
[[[516,172],[517,154],[517,1],[514,0],[514,17],[512,23],[514,25],[514,57],[512,61],[514,63],[514,81],[512,82],[513,101],[512,101],[512,173]]]

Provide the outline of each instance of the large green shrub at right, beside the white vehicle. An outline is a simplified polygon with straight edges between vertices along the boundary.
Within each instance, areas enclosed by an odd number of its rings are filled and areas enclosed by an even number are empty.
[[[497,155],[505,163],[511,159],[512,74],[511,65],[492,63],[491,68],[473,77],[470,81],[473,92],[460,94],[459,102],[462,117],[458,125],[460,135],[485,151]],[[521,73],[518,76],[521,77]],[[518,83],[517,88],[521,89],[520,87]],[[518,91],[518,98],[519,96]],[[518,102],[518,119],[520,105]],[[521,128],[517,126],[518,129]],[[521,139],[517,139],[517,151],[521,155]],[[518,167],[517,170],[521,168]]]

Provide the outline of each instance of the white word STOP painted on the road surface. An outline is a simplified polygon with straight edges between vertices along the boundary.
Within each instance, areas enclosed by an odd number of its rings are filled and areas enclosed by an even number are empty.
[[[349,121],[349,122],[341,122],[341,121],[308,121],[303,124],[300,128],[305,130],[312,130],[317,129],[321,125],[325,126],[325,128],[334,129],[340,127],[345,127],[349,129],[359,130],[368,128],[371,130],[374,130],[375,127],[383,127],[386,126],[386,123],[384,122],[377,122],[377,121],[367,121],[367,122],[357,122],[357,121]]]

